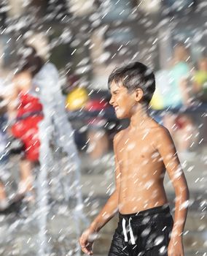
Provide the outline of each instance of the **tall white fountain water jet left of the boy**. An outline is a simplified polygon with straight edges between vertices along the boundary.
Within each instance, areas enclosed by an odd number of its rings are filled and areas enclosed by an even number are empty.
[[[80,191],[80,160],[77,148],[74,143],[73,129],[66,115],[64,98],[60,91],[58,71],[51,63],[42,67],[34,77],[33,85],[38,91],[39,99],[43,105],[44,119],[39,125],[40,139],[40,170],[38,177],[38,196],[39,196],[39,255],[47,255],[49,251],[47,243],[47,214],[48,207],[48,181],[47,174],[52,162],[52,151],[50,140],[55,139],[56,146],[62,148],[67,155],[69,171],[63,184],[63,192],[66,201],[75,200],[75,207],[72,211],[74,223],[76,225],[77,236],[80,236],[80,221],[88,224],[85,214],[82,211],[82,194]],[[55,134],[55,137],[54,137]],[[63,173],[60,170],[60,173]],[[79,246],[76,255],[80,255]]]

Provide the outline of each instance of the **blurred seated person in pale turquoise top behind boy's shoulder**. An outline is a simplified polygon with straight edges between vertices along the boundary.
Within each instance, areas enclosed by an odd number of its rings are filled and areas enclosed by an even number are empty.
[[[192,118],[185,113],[179,113],[181,108],[190,107],[192,104],[191,68],[187,62],[189,58],[190,53],[187,48],[179,42],[174,48],[173,60],[168,70],[170,89],[165,97],[167,100],[165,105],[169,107],[169,111],[163,117],[163,124],[171,132],[177,149],[183,157],[190,157],[193,154],[189,148],[192,143],[192,132],[195,129]]]

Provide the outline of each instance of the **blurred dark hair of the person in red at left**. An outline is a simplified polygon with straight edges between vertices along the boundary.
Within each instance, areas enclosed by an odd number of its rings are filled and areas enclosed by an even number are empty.
[[[42,68],[44,61],[36,53],[36,49],[30,45],[24,45],[19,54],[19,72],[29,71],[34,77],[36,73]]]

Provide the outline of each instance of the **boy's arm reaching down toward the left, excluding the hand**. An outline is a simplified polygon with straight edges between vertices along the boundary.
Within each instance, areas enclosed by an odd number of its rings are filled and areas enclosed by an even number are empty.
[[[109,222],[118,211],[118,202],[119,202],[119,191],[120,191],[120,167],[117,160],[117,139],[120,136],[120,132],[114,136],[114,158],[115,158],[115,190],[112,195],[107,200],[105,206],[103,206],[102,210],[98,214],[98,216],[93,220],[90,225],[90,229],[93,232],[98,232],[101,228]]]

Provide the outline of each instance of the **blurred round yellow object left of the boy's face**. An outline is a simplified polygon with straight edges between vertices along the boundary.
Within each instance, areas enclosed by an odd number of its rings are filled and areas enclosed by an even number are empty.
[[[71,111],[79,110],[85,106],[88,99],[89,97],[85,88],[75,88],[66,98],[66,108]]]

